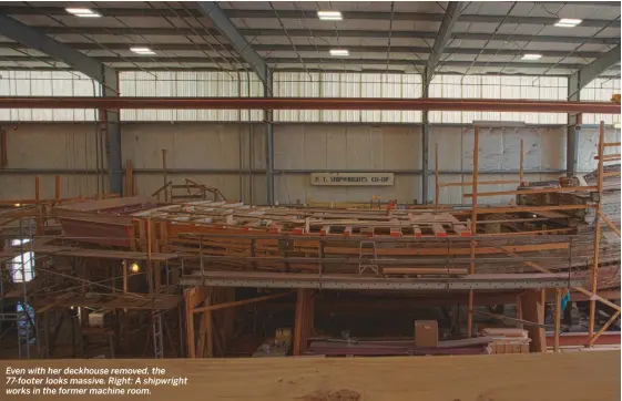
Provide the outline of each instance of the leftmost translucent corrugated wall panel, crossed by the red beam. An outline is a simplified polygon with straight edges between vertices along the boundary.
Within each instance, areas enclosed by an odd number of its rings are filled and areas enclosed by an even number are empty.
[[[2,71],[0,96],[99,96],[100,84],[80,72]],[[0,121],[94,121],[89,109],[0,109]]]

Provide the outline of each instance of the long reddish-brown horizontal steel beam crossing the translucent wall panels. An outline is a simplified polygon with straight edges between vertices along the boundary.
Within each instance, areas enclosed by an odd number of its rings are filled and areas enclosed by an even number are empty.
[[[619,114],[611,102],[374,97],[0,97],[0,109],[441,110]]]

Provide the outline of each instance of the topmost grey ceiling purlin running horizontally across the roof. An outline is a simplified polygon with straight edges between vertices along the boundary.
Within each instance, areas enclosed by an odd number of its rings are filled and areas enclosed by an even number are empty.
[[[573,2],[575,4],[575,2]],[[602,2],[594,3],[600,6]],[[618,4],[620,7],[620,4]],[[203,13],[197,9],[191,8],[94,8],[103,17],[179,17],[190,13],[192,17],[202,17]],[[244,19],[275,19],[274,12],[269,10],[238,10],[238,9],[224,9],[227,18],[244,18]],[[20,6],[6,6],[0,7],[0,12],[10,16],[67,16],[68,12],[62,7],[20,7]],[[376,11],[341,11],[346,20],[390,20],[390,12],[376,12]],[[316,19],[315,12],[302,10],[278,10],[278,17],[282,19]],[[439,12],[394,12],[392,19],[395,21],[442,21],[445,14]],[[499,23],[503,21],[504,16],[480,16],[480,14],[462,14],[460,22],[482,22],[482,23]],[[513,16],[506,18],[506,23],[529,23],[552,25],[559,21],[559,18],[552,17],[527,17]],[[609,20],[599,19],[584,19],[581,27],[604,27]]]

